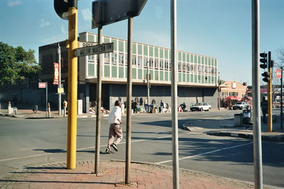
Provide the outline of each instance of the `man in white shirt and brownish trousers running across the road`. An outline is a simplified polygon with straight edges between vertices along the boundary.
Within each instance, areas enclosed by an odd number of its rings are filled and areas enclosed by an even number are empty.
[[[121,102],[115,101],[114,109],[111,110],[109,114],[109,142],[107,144],[106,153],[111,153],[111,147],[114,148],[115,151],[119,151],[117,149],[117,144],[121,142],[122,139],[122,129],[121,129]],[[114,141],[114,137],[116,140]]]

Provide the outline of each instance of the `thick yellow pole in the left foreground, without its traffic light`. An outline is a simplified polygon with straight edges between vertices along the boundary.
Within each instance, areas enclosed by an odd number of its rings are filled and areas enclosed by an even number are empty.
[[[68,127],[67,127],[67,168],[76,168],[77,137],[77,57],[74,57],[78,46],[77,8],[68,11],[69,50],[68,50]]]

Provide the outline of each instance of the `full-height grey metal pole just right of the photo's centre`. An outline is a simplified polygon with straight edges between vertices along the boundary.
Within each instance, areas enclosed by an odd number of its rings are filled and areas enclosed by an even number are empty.
[[[179,164],[178,164],[178,62],[177,62],[177,1],[170,1],[170,50],[172,64],[172,147],[173,147],[173,188],[179,188]]]

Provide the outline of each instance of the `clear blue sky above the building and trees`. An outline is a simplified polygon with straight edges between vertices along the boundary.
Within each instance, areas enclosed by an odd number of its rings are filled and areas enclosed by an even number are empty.
[[[251,84],[251,1],[177,0],[178,50],[217,57],[221,79]],[[284,47],[284,1],[261,0],[261,51]],[[92,0],[78,1],[78,33],[91,28]],[[53,0],[1,0],[0,41],[26,50],[68,38],[68,23]],[[127,39],[127,21],[103,28],[103,35]],[[170,0],[148,0],[133,19],[133,40],[170,47]]]

